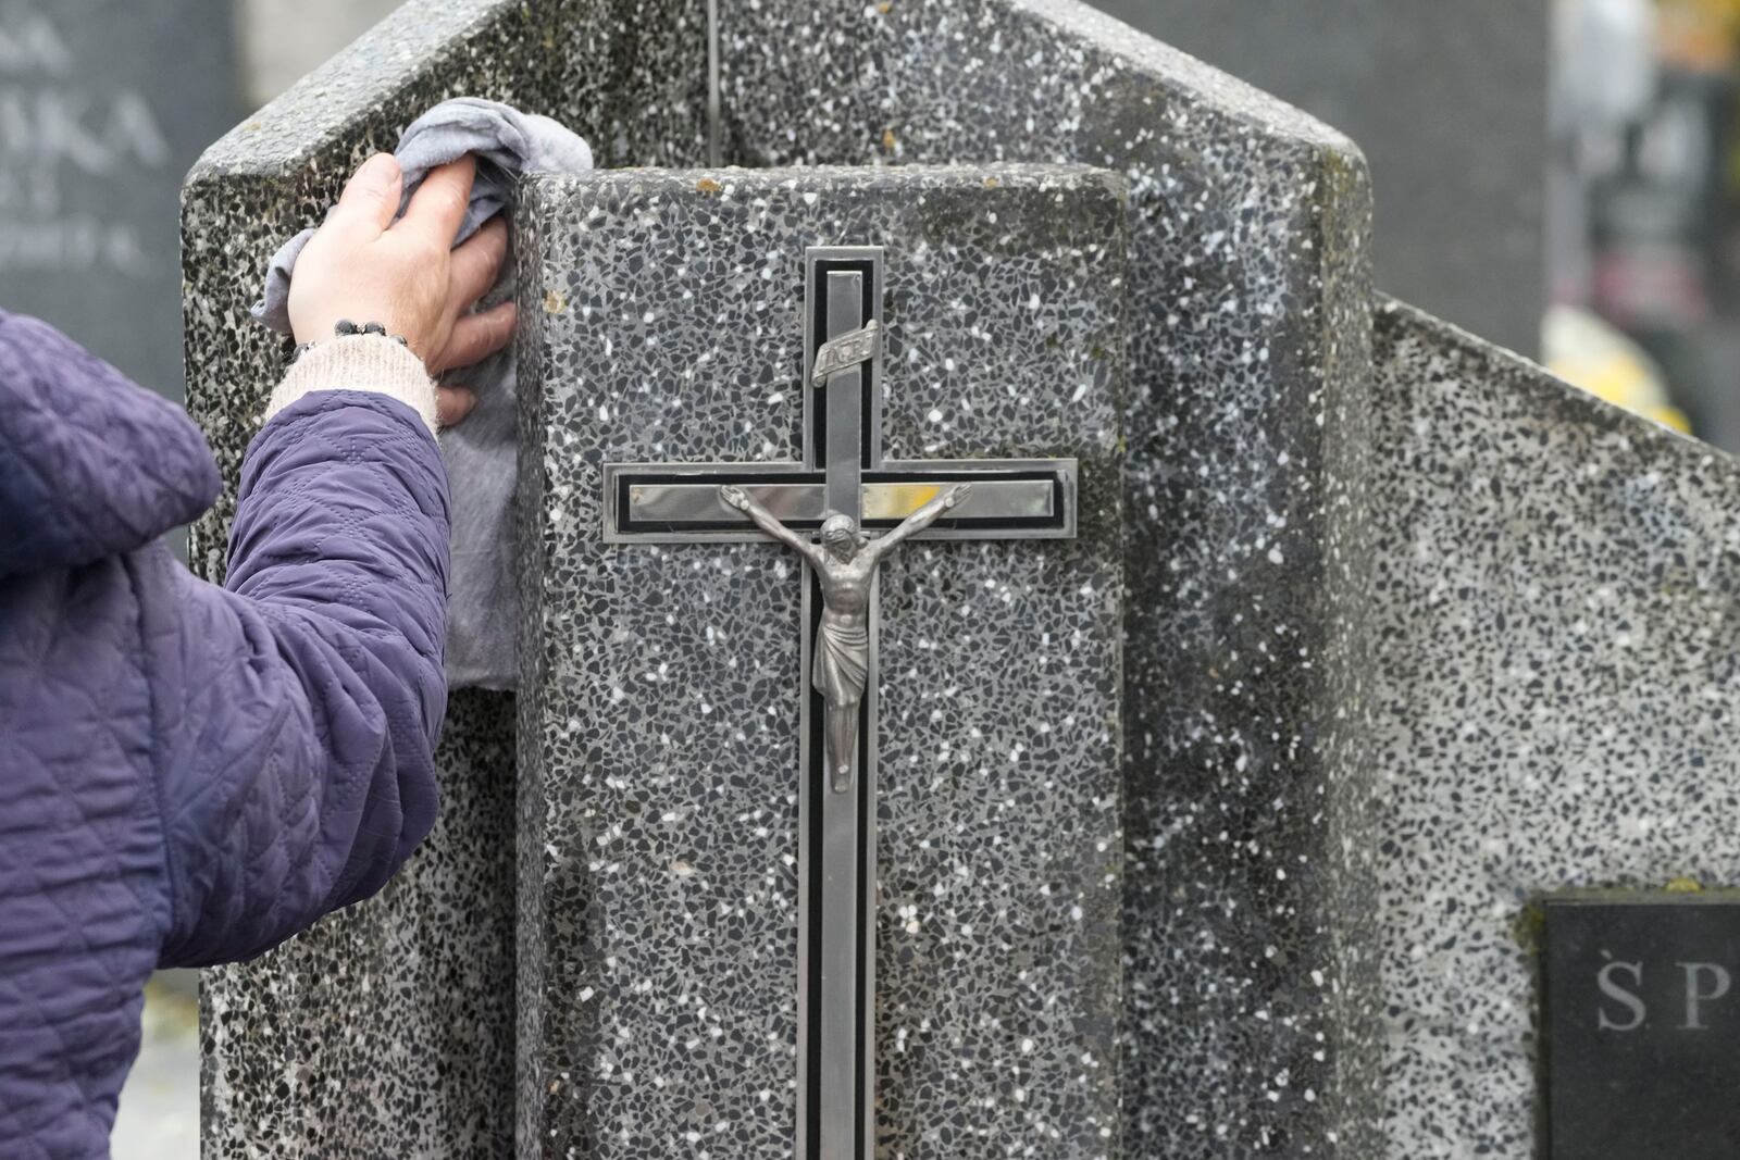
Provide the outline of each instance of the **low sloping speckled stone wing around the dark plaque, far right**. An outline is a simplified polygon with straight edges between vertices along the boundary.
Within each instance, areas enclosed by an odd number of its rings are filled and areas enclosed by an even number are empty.
[[[1404,306],[1347,489],[1343,713],[1395,1160],[1535,1157],[1536,892],[1740,878],[1740,464]]]

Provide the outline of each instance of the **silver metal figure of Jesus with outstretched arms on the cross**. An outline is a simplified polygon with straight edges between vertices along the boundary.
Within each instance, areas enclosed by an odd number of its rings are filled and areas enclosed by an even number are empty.
[[[865,539],[849,515],[821,522],[821,543],[793,532],[741,487],[720,487],[719,497],[743,511],[755,527],[809,560],[821,581],[821,631],[816,635],[816,668],[811,682],[828,706],[828,772],[835,793],[853,784],[853,755],[858,751],[858,706],[870,673],[870,581],[875,565],[901,541],[936,523],[938,517],[967,497],[971,483],[947,492],[908,515],[880,539]]]

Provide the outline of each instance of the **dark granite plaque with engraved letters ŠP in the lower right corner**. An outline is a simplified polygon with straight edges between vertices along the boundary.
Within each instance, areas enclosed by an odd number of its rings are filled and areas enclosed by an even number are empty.
[[[1740,1157],[1740,897],[1543,910],[1549,1160]]]

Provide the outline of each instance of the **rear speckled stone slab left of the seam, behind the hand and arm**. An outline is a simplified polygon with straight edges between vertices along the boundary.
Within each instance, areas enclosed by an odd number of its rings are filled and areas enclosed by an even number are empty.
[[[214,144],[183,190],[190,410],[224,477],[284,344],[247,317],[268,256],[430,104],[510,101],[604,165],[705,155],[701,0],[414,0]],[[193,536],[223,572],[233,492]],[[379,899],[204,981],[209,1155],[501,1157],[512,1148],[513,711],[456,696],[444,814]]]

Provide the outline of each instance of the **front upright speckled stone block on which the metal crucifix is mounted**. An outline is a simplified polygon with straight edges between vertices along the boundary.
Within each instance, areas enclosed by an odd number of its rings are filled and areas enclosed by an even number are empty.
[[[882,569],[879,1155],[1122,1155],[1122,179],[541,179],[520,238],[520,1155],[793,1150],[800,572],[604,544],[600,464],[799,457],[816,243],[887,247],[889,456],[1082,464],[1079,539]]]

